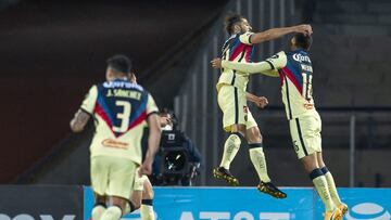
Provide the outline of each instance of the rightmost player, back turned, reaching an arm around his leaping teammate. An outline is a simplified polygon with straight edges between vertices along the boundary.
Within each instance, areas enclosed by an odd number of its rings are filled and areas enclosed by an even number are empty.
[[[313,100],[313,67],[308,56],[312,38],[297,34],[290,41],[291,51],[252,64],[215,59],[216,68],[230,68],[240,73],[261,73],[279,77],[282,102],[289,120],[294,151],[310,174],[316,191],[326,207],[325,220],[342,219],[348,211],[338,195],[331,172],[321,156],[321,120]]]

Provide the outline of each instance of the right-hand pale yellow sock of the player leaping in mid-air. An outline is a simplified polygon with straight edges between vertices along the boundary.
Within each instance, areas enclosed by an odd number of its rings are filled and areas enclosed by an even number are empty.
[[[266,158],[263,152],[262,143],[249,144],[251,163],[254,165],[258,178],[262,182],[270,182],[267,174]]]

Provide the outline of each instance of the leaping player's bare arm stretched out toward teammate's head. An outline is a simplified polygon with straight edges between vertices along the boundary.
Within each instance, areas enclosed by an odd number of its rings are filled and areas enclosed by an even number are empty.
[[[250,40],[251,43],[255,44],[255,43],[274,40],[276,38],[280,38],[291,33],[302,33],[304,35],[312,35],[313,31],[311,25],[297,25],[292,27],[272,28],[262,33],[255,33],[251,35]]]

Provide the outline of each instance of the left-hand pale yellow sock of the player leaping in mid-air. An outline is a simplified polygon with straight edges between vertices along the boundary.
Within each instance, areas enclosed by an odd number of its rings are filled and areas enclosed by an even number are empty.
[[[224,153],[220,163],[220,167],[229,169],[230,163],[234,160],[235,156],[237,155],[241,140],[243,135],[239,132],[231,133],[224,144]]]

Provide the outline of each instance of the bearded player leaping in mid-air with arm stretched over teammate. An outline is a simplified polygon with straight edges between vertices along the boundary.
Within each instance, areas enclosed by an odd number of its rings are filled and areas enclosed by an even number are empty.
[[[251,33],[249,22],[239,14],[226,18],[226,30],[230,35],[223,46],[223,60],[239,63],[251,62],[254,46],[269,41],[290,33],[312,33],[310,25],[274,28],[262,33]],[[229,166],[239,147],[247,142],[250,159],[260,177],[257,189],[274,197],[283,198],[287,195],[278,190],[267,174],[265,155],[260,129],[248,108],[247,101],[254,101],[254,96],[247,93],[248,74],[239,74],[231,68],[222,68],[217,82],[217,101],[223,112],[223,128],[230,132],[224,144],[224,153],[219,167],[213,170],[216,178],[225,179],[231,185],[239,185],[239,180],[229,171]]]

